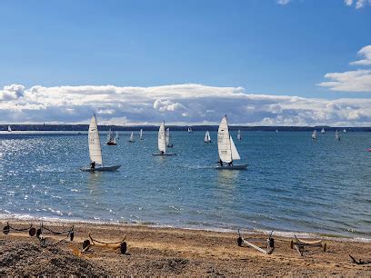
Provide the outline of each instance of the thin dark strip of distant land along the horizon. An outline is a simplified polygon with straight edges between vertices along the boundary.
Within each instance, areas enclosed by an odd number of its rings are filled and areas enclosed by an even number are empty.
[[[11,126],[12,131],[75,131],[87,132],[88,124],[0,124],[0,131],[6,131],[8,125]],[[172,131],[187,131],[188,126],[192,127],[193,131],[217,131],[218,125],[166,125]],[[99,125],[100,131],[108,131],[112,128],[115,131],[137,131],[141,128],[144,131],[158,131],[157,125]],[[314,129],[320,131],[325,128],[326,132],[335,132],[339,130],[343,132],[371,132],[371,126],[246,126],[246,125],[230,125],[231,131],[262,131],[262,132],[311,132]]]

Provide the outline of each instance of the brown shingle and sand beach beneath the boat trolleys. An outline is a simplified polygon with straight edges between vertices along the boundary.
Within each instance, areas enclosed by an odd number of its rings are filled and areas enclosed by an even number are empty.
[[[6,222],[2,221],[2,227]],[[61,231],[75,225],[73,242],[62,241],[63,236],[46,238],[45,246],[27,232],[2,233],[0,237],[1,275],[266,275],[266,276],[370,276],[371,264],[352,263],[356,259],[371,259],[371,243],[350,240],[324,240],[327,251],[312,248],[300,256],[290,248],[290,238],[275,238],[272,254],[260,253],[251,247],[239,247],[236,233],[221,233],[159,228],[128,224],[45,223]],[[29,222],[15,222],[25,228]],[[38,224],[34,222],[34,226]],[[88,233],[99,241],[118,242],[125,235],[127,251],[91,246],[81,255]],[[247,237],[247,235],[246,235]],[[266,234],[248,234],[262,238]]]

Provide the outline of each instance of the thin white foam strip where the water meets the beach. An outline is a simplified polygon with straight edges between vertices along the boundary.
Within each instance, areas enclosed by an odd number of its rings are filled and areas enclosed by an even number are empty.
[[[226,229],[226,228],[217,228],[217,227],[200,227],[200,226],[175,226],[175,225],[165,225],[160,223],[142,223],[142,222],[119,222],[119,221],[86,221],[81,219],[65,219],[65,218],[55,218],[55,217],[35,217],[29,214],[1,214],[0,221],[10,221],[10,220],[20,220],[20,221],[45,221],[49,223],[91,223],[91,224],[111,224],[111,225],[120,225],[120,224],[133,224],[133,225],[145,225],[148,227],[155,228],[174,228],[174,229],[185,229],[190,231],[210,231],[218,233],[237,233],[236,229]],[[240,229],[241,233],[247,234],[256,234],[256,233],[265,233],[269,234],[272,231],[266,230],[247,230]],[[296,232],[282,232],[282,231],[273,231],[273,234],[280,237],[292,238],[296,235],[299,238],[321,238],[324,240],[331,241],[341,241],[341,242],[359,242],[359,243],[371,243],[371,238],[363,237],[342,237],[338,235],[323,235],[320,233],[296,233]]]

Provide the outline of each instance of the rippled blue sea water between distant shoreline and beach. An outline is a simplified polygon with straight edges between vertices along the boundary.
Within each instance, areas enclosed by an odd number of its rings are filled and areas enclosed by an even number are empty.
[[[156,157],[157,133],[103,145],[115,173],[83,173],[87,134],[0,134],[0,217],[151,223],[371,238],[371,134],[246,132],[246,171],[216,171],[216,132],[173,132],[177,156]],[[236,133],[232,133],[236,138]],[[105,134],[101,134],[105,141]]]

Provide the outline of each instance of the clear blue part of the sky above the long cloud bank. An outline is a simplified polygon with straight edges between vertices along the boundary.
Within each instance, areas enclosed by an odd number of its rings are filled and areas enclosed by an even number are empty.
[[[349,73],[370,69],[350,65],[371,45],[370,1],[285,2],[1,1],[0,87],[202,84],[369,100],[368,72],[356,88],[319,84],[332,73],[355,84]]]

